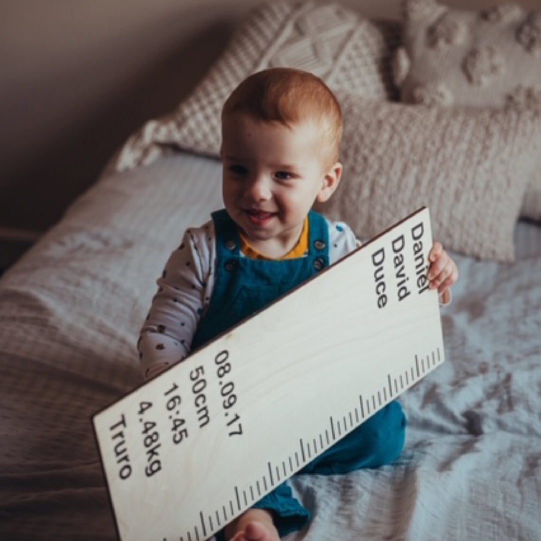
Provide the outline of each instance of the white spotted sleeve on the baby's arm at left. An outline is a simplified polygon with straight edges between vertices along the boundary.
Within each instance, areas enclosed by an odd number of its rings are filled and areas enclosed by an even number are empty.
[[[195,329],[210,299],[214,227],[188,229],[171,253],[137,342],[146,379],[187,357]]]

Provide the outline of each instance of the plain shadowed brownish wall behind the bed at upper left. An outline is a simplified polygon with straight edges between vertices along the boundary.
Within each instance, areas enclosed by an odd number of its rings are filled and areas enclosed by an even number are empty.
[[[3,0],[0,233],[52,225],[131,131],[187,94],[247,3]]]

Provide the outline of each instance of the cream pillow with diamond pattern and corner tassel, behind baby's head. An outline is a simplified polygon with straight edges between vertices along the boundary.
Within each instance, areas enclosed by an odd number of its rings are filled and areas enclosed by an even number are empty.
[[[108,169],[148,164],[175,148],[216,156],[223,103],[248,75],[269,67],[311,71],[333,90],[397,99],[391,59],[399,39],[399,24],[375,23],[338,4],[263,4],[240,26],[193,94],[173,113],[147,122]]]

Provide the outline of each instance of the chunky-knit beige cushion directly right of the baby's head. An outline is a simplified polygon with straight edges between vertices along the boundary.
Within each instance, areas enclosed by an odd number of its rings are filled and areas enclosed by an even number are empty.
[[[316,209],[367,239],[426,205],[444,247],[514,259],[527,174],[541,152],[539,113],[338,98],[344,172],[337,192]]]

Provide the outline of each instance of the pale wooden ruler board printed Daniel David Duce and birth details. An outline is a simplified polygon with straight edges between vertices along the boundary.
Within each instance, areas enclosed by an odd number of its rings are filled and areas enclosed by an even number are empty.
[[[444,360],[423,207],[93,416],[122,541],[202,541]]]

